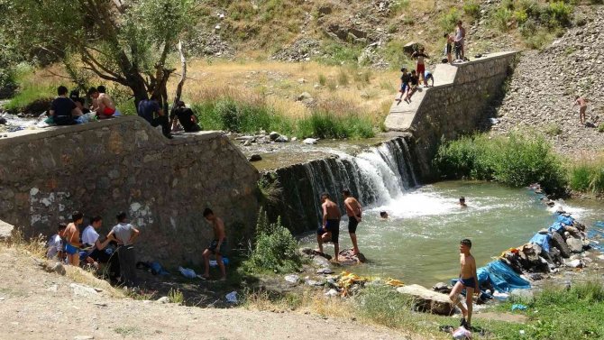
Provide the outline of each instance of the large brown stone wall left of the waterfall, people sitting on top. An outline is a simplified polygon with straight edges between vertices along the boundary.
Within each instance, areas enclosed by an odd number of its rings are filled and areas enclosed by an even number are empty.
[[[220,133],[164,138],[139,117],[26,130],[0,140],[0,218],[26,235],[51,234],[73,210],[124,210],[140,227],[140,259],[199,262],[212,238],[202,216],[224,218],[233,244],[250,234],[258,171]]]

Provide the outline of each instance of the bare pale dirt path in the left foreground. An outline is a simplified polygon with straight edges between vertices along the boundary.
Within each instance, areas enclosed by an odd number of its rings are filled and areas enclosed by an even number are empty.
[[[32,257],[0,246],[0,339],[407,338],[341,319],[116,299],[70,284],[66,276],[42,271]]]

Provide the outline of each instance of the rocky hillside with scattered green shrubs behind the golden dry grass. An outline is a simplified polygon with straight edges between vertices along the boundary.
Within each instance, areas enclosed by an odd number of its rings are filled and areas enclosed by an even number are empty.
[[[458,19],[471,53],[521,46],[515,26],[505,34],[493,27],[499,6],[498,0],[208,0],[189,45],[204,56],[399,67],[411,41],[440,56],[443,33],[453,32]]]

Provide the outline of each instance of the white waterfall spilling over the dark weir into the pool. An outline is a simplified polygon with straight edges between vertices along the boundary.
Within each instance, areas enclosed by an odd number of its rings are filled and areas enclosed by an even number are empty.
[[[354,156],[338,152],[333,157],[276,170],[281,204],[270,209],[271,215],[281,216],[295,232],[312,229],[321,219],[321,194],[328,193],[343,208],[344,188],[350,189],[363,207],[387,205],[418,184],[411,160],[407,142],[396,138]]]

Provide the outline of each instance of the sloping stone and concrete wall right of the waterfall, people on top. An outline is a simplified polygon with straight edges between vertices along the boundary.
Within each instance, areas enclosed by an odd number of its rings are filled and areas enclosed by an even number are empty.
[[[485,108],[501,96],[516,56],[516,51],[500,52],[462,64],[439,64],[434,87],[422,88],[410,105],[393,102],[385,125],[390,131],[413,134],[424,181],[434,179],[431,161],[442,139],[471,133],[485,118]]]

